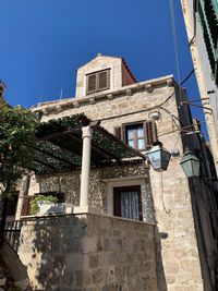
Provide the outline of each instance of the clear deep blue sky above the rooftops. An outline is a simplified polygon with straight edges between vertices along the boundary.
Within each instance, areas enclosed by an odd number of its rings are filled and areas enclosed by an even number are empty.
[[[174,0],[181,81],[192,71]],[[31,107],[75,94],[76,69],[98,52],[123,57],[137,81],[174,74],[169,0],[0,0],[0,78],[7,100]],[[190,98],[198,98],[195,77]],[[198,110],[194,114],[202,118]]]

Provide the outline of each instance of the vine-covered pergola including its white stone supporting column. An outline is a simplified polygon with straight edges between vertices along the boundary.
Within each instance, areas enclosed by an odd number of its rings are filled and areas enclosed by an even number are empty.
[[[37,138],[32,170],[40,175],[81,169],[80,207],[88,207],[90,167],[145,159],[83,113],[43,122]]]

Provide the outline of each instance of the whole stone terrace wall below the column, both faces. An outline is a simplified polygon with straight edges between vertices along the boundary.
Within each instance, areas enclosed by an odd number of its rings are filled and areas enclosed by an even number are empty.
[[[157,291],[154,230],[93,214],[33,218],[19,255],[33,290]]]

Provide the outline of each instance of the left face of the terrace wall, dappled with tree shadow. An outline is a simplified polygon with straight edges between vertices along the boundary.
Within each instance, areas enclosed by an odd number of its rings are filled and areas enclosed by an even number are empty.
[[[85,226],[68,217],[24,221],[19,255],[27,266],[33,290],[60,290],[83,282],[82,238]],[[76,220],[76,221],[75,221]],[[25,238],[25,241],[23,239]]]

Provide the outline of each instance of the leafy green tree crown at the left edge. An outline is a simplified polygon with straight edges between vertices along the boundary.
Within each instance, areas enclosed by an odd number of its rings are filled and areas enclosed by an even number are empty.
[[[20,106],[0,109],[0,193],[9,196],[33,162],[38,121]]]

